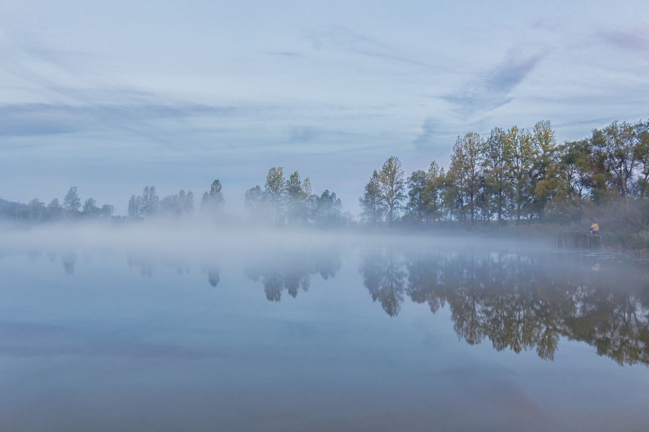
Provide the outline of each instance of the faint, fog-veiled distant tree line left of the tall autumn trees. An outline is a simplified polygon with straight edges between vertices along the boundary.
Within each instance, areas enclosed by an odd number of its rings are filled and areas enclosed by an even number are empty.
[[[259,185],[245,192],[245,207],[255,222],[277,225],[341,226],[352,219],[342,211],[335,192],[328,189],[320,195],[312,193],[310,178],[302,180],[295,171],[288,178],[283,167],[269,169],[263,188]],[[155,217],[192,217],[219,220],[224,216],[225,197],[221,180],[215,179],[204,191],[199,211],[195,214],[192,191],[178,191],[160,198],[155,186],[145,186],[140,195],[133,194],[127,204],[126,219],[143,220]],[[95,198],[87,198],[83,206],[77,187],[70,187],[63,203],[54,198],[47,206],[38,198],[27,204],[0,198],[0,215],[22,222],[45,222],[63,219],[122,219],[114,216],[110,204],[97,206]]]

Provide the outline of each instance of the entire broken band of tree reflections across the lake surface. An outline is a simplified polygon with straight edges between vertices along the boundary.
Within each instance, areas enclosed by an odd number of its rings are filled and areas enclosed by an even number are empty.
[[[56,254],[46,256],[51,260]],[[217,287],[222,267],[238,261],[210,259],[201,258],[200,269]],[[66,274],[74,274],[77,260],[75,253],[61,255]],[[191,269],[185,259],[169,256],[130,254],[127,263],[147,278],[156,266],[179,274]],[[308,291],[317,274],[323,280],[336,276],[341,263],[335,248],[276,250],[248,256],[243,274],[262,283],[269,301],[279,302],[285,291],[294,298]],[[533,350],[552,360],[559,339],[567,337],[587,342],[617,363],[649,365],[646,263],[602,254],[380,246],[360,249],[358,271],[373,302],[390,317],[398,316],[407,298],[434,314],[448,307],[456,335],[469,344],[490,341],[498,351]],[[360,281],[353,283],[350,289],[361,287]]]

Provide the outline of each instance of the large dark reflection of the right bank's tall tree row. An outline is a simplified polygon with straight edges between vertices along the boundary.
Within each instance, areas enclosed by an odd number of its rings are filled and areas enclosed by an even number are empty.
[[[489,339],[496,350],[534,349],[554,359],[559,337],[585,341],[620,364],[649,365],[646,270],[625,263],[593,265],[593,257],[420,251],[407,257],[379,250],[363,255],[363,282],[388,315],[402,302],[433,313],[448,304],[460,339]],[[406,272],[399,270],[405,264]],[[593,270],[594,268],[598,270]]]

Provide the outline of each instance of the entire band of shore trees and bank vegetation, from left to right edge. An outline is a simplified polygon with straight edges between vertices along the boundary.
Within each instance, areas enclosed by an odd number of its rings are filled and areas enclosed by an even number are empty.
[[[269,226],[484,230],[585,230],[596,220],[607,243],[649,248],[649,121],[613,122],[579,141],[557,143],[549,121],[533,128],[493,128],[489,136],[458,136],[450,163],[432,161],[406,177],[397,156],[369,176],[359,198],[360,221],[343,212],[336,193],[312,192],[310,178],[271,167],[262,186],[245,192],[249,221]],[[0,215],[18,223],[80,219],[201,217],[241,222],[225,211],[215,179],[195,209],[191,191],[160,198],[145,186],[129,199],[125,216],[70,187],[62,203],[27,204],[0,198]],[[524,228],[524,226],[533,228]]]

